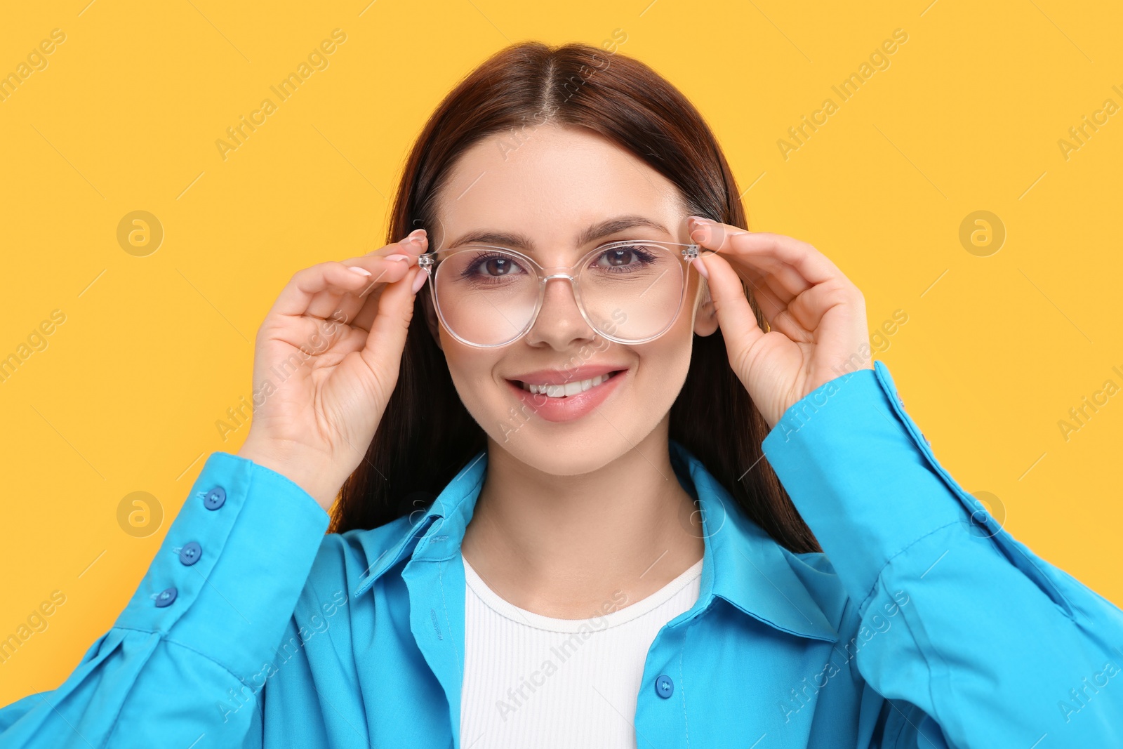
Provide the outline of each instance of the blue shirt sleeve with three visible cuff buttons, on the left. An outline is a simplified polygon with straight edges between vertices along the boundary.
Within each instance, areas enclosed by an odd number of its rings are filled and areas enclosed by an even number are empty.
[[[259,693],[328,522],[281,474],[211,454],[113,627],[58,688],[0,709],[0,746],[259,747]]]

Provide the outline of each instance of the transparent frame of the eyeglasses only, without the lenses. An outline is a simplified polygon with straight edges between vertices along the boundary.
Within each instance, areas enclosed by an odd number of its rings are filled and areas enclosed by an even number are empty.
[[[670,253],[672,255],[681,255],[681,258],[679,258],[679,262],[682,264],[681,267],[682,266],[685,266],[685,267],[682,267],[682,272],[683,272],[683,275],[682,275],[682,289],[681,289],[679,294],[678,294],[678,304],[675,308],[675,312],[670,317],[670,321],[667,323],[667,326],[663,330],[660,330],[659,332],[657,332],[657,334],[655,334],[652,336],[648,336],[647,338],[642,338],[642,339],[624,339],[624,338],[620,338],[618,336],[613,336],[609,331],[603,330],[601,326],[597,326],[592,320],[592,318],[590,318],[588,313],[585,311],[585,305],[581,301],[581,283],[578,282],[577,276],[581,273],[581,271],[585,267],[585,264],[588,263],[593,257],[595,257],[595,256],[597,256],[597,255],[600,255],[602,253],[609,252],[611,249],[617,249],[617,248],[622,248],[622,247],[629,247],[629,246],[634,246],[634,245],[650,245],[650,246],[661,247],[663,249],[665,249],[666,252]],[[681,248],[677,254],[675,253],[675,249],[674,249],[675,247]],[[501,250],[503,253],[508,253],[510,255],[514,255],[515,257],[518,257],[521,261],[526,262],[528,266],[530,266],[531,268],[533,268],[535,273],[538,276],[538,301],[535,303],[535,311],[530,316],[530,321],[518,334],[515,334],[512,338],[510,338],[509,340],[505,340],[505,341],[503,341],[501,344],[477,344],[475,341],[467,340],[467,339],[460,337],[453,329],[453,327],[450,325],[448,325],[448,322],[445,320],[445,316],[444,316],[444,313],[441,312],[441,309],[440,309],[440,299],[438,298],[438,294],[437,294],[437,285],[436,285],[436,282],[435,282],[435,277],[436,277],[437,271],[439,270],[440,263],[442,263],[445,259],[447,259],[447,258],[449,258],[453,255],[456,255],[458,253],[462,253],[462,252],[478,252],[481,249]],[[581,317],[584,318],[585,322],[588,323],[588,327],[591,327],[593,330],[595,330],[597,335],[600,335],[603,338],[606,338],[606,339],[609,339],[611,341],[618,342],[618,344],[624,344],[624,345],[628,345],[628,346],[637,346],[639,344],[646,344],[646,342],[655,340],[656,338],[659,338],[660,336],[663,336],[664,334],[666,334],[667,330],[669,330],[672,328],[672,326],[675,323],[675,320],[678,319],[678,313],[679,313],[679,311],[683,308],[683,301],[686,298],[686,287],[690,285],[687,283],[687,280],[690,277],[688,273],[690,273],[691,261],[693,261],[694,258],[700,257],[700,256],[712,255],[715,252],[716,250],[704,248],[701,245],[697,245],[697,244],[694,244],[694,243],[684,245],[684,244],[678,243],[678,241],[664,241],[664,240],[658,240],[658,239],[621,239],[621,240],[618,240],[618,241],[609,243],[606,245],[600,245],[599,247],[595,247],[595,248],[591,249],[588,253],[586,253],[579,261],[577,261],[576,263],[574,263],[572,266],[568,266],[568,267],[565,267],[565,266],[544,267],[535,258],[530,257],[529,255],[520,253],[520,252],[518,252],[515,249],[511,249],[509,247],[502,247],[502,246],[499,246],[499,245],[466,245],[464,247],[458,247],[456,249],[438,249],[438,250],[433,250],[433,252],[430,252],[430,253],[424,253],[422,255],[419,255],[418,256],[418,267],[420,267],[422,271],[424,271],[426,274],[428,275],[429,293],[432,295],[433,308],[436,308],[437,317],[440,319],[440,322],[444,326],[445,330],[447,330],[450,336],[453,336],[454,338],[456,338],[456,340],[458,340],[462,344],[465,344],[467,346],[474,346],[476,348],[499,348],[501,346],[510,346],[514,341],[517,341],[520,338],[522,338],[523,336],[526,336],[527,332],[529,332],[535,327],[535,323],[538,321],[538,313],[542,309],[542,300],[546,296],[546,282],[550,281],[551,278],[566,278],[566,280],[569,281],[569,286],[573,290],[574,301],[577,303],[577,309],[581,311]],[[438,256],[441,256],[441,258],[439,261],[437,259]]]

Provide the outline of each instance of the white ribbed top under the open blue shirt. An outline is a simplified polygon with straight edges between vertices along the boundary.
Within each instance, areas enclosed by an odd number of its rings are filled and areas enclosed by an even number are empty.
[[[702,560],[640,601],[629,604],[618,593],[590,619],[555,619],[504,601],[460,558],[467,582],[460,746],[634,749],[648,649],[664,624],[697,601]]]

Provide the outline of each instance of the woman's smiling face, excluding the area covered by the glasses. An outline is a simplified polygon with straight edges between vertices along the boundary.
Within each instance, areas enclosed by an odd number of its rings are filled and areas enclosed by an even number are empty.
[[[631,154],[584,128],[547,125],[522,138],[519,144],[500,135],[465,152],[439,195],[430,249],[459,246],[469,234],[520,235],[527,247],[483,244],[522,252],[544,267],[569,267],[619,239],[691,240],[675,185]],[[626,217],[643,222],[623,221],[577,244],[591,227]],[[716,329],[712,304],[699,311],[697,272],[691,268],[686,277],[686,298],[670,329],[636,346],[597,335],[565,278],[547,282],[535,325],[506,346],[468,346],[431,318],[430,327],[439,327],[460,400],[500,449],[545,473],[584,474],[657,437],[656,428],[666,433],[667,412],[690,367],[692,334]],[[555,371],[554,378],[544,371]],[[602,372],[614,374],[576,396],[555,399],[522,386],[597,383]]]

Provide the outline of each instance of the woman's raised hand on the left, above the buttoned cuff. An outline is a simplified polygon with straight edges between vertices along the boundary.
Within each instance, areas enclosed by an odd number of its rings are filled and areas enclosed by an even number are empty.
[[[398,384],[426,243],[417,229],[368,255],[299,271],[257,330],[254,418],[238,455],[325,510],[362,463]]]

